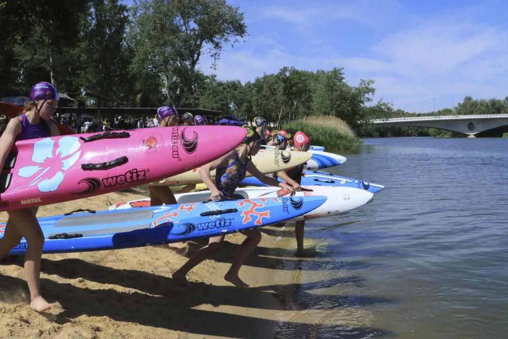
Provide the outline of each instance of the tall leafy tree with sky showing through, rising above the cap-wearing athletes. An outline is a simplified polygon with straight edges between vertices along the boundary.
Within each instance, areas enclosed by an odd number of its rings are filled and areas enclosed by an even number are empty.
[[[243,13],[225,0],[142,0],[133,18],[135,65],[160,75],[167,101],[177,107],[197,89],[201,56],[215,62],[225,43],[246,35]]]

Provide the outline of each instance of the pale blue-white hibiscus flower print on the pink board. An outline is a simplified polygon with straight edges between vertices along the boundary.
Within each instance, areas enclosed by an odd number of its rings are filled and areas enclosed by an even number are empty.
[[[53,192],[63,181],[63,174],[74,165],[81,153],[77,137],[60,138],[55,148],[55,141],[45,138],[34,143],[34,154],[31,160],[39,165],[25,166],[18,170],[18,175],[29,178],[27,186],[37,185],[41,192]],[[24,185],[25,186],[25,185]]]

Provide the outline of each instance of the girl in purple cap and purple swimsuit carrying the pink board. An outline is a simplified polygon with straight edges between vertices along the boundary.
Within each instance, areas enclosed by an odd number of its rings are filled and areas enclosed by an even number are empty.
[[[39,82],[30,90],[30,101],[25,104],[24,113],[11,119],[0,137],[0,168],[16,141],[59,135],[58,128],[51,120],[59,100],[58,90],[47,82]],[[0,259],[16,246],[21,238],[27,242],[24,269],[30,291],[30,307],[37,312],[50,308],[41,294],[41,256],[44,235],[37,221],[38,207],[9,210],[9,219],[4,237],[0,239]]]

